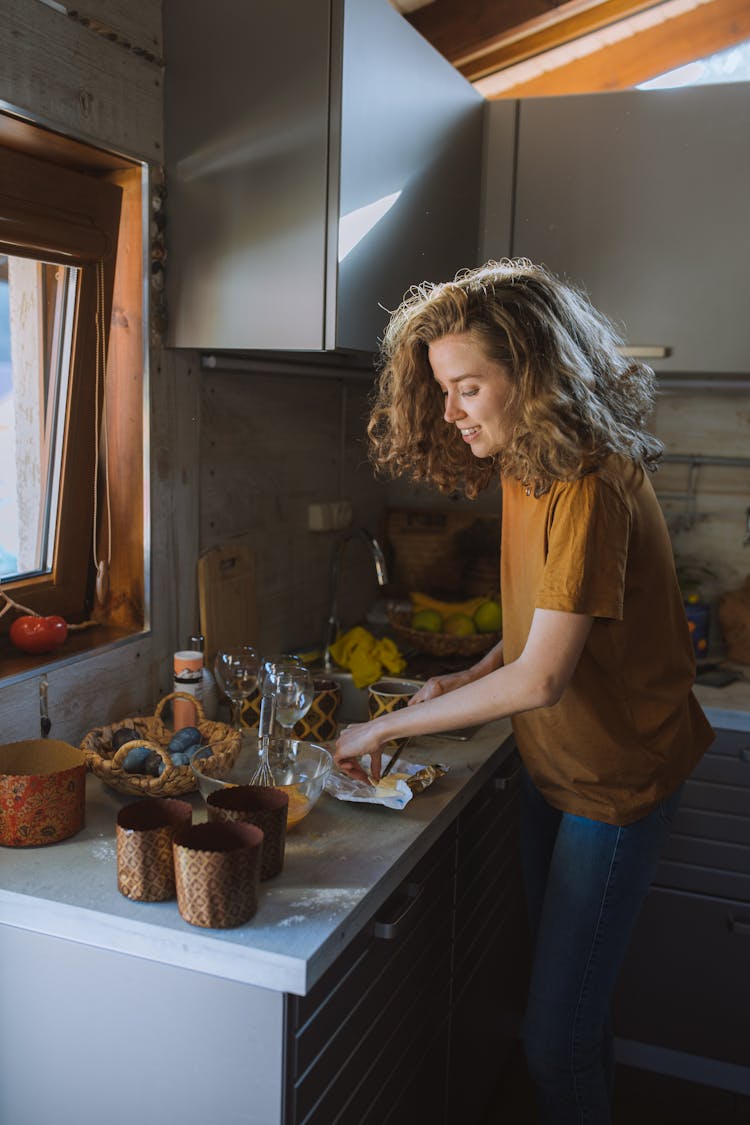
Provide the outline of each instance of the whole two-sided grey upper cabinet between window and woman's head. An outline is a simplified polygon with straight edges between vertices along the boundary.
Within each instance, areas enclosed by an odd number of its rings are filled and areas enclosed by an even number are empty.
[[[165,0],[169,343],[374,351],[476,264],[484,101],[387,0]]]

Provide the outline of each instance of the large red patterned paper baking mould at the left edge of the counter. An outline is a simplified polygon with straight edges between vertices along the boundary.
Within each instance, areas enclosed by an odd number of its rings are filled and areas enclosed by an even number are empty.
[[[85,755],[69,742],[31,738],[0,746],[0,844],[56,844],[83,827]]]

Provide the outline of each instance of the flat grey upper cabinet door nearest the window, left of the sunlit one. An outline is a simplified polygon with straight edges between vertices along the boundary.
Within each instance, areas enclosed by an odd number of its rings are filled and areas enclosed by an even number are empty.
[[[173,346],[323,348],[329,8],[164,2]]]

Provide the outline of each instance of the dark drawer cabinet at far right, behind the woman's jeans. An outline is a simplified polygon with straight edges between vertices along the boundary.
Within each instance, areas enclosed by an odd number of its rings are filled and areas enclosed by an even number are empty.
[[[750,732],[716,731],[635,925],[618,1036],[750,1068]]]

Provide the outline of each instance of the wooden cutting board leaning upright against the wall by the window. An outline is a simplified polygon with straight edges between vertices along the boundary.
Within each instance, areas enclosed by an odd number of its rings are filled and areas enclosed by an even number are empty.
[[[227,543],[198,560],[200,631],[206,638],[206,664],[213,667],[220,648],[257,646],[255,552]]]

